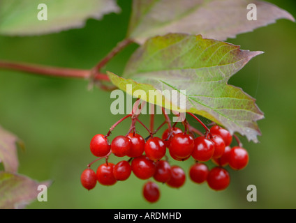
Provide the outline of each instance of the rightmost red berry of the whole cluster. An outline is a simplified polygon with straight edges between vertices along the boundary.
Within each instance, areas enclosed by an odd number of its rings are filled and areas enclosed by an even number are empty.
[[[240,170],[244,169],[249,162],[248,152],[239,146],[235,146],[229,153],[229,166],[232,169]]]

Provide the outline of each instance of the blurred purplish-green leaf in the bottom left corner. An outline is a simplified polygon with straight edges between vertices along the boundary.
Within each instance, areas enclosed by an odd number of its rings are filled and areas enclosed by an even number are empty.
[[[38,186],[49,187],[50,181],[38,183],[27,176],[0,171],[0,209],[24,208],[37,199]]]

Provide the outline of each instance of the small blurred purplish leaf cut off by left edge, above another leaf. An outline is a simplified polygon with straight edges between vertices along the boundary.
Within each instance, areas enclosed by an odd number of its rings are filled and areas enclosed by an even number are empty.
[[[0,162],[3,162],[4,169],[10,172],[17,172],[19,165],[17,160],[17,137],[4,130],[0,126]]]

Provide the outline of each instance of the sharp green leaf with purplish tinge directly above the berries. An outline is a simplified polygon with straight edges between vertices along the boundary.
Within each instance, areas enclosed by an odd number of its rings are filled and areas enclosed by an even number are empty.
[[[251,96],[227,82],[258,54],[262,52],[241,50],[239,46],[203,39],[200,35],[175,33],[147,40],[131,56],[123,77],[110,72],[108,75],[123,91],[126,84],[146,92],[186,90],[186,112],[209,118],[231,133],[239,132],[257,141],[260,130],[256,121],[263,118],[262,112]],[[165,100],[155,104],[170,109]],[[149,97],[147,101],[151,102]]]

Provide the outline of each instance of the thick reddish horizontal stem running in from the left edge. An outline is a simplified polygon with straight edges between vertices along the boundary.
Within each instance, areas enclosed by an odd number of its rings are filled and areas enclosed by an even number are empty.
[[[30,63],[18,63],[12,61],[0,61],[0,68],[8,70],[19,70],[22,72],[34,73],[36,75],[45,75],[51,77],[73,77],[73,78],[85,78],[90,75],[90,70],[80,70],[73,68],[57,68],[52,66],[41,66]],[[103,80],[110,82],[108,75],[101,72],[96,73],[94,76],[97,80]]]

